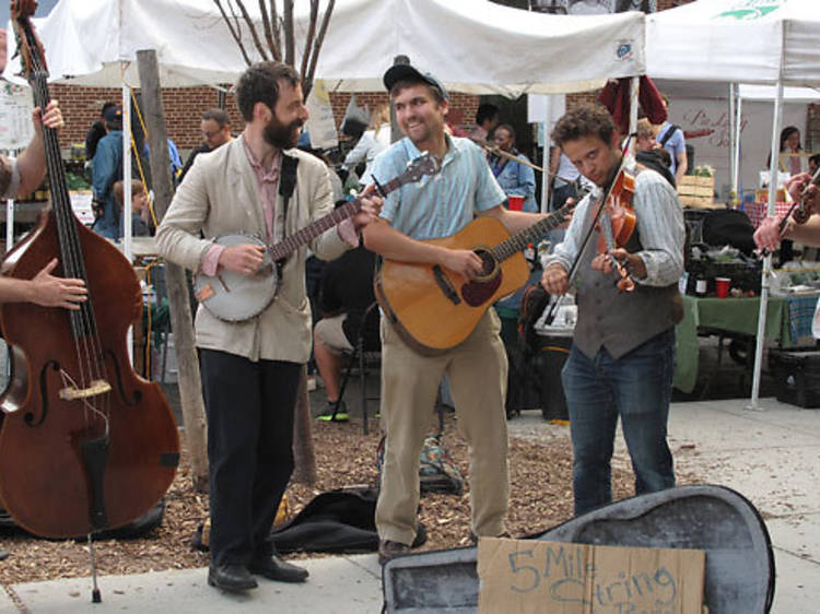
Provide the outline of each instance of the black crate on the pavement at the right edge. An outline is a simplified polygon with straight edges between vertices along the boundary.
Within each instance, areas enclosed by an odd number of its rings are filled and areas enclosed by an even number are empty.
[[[769,351],[769,366],[774,374],[775,397],[781,403],[820,409],[820,350],[773,347]]]

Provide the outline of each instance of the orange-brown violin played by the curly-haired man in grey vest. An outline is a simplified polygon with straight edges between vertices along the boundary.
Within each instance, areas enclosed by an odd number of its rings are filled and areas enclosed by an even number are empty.
[[[612,256],[612,250],[625,247],[635,231],[637,217],[632,206],[635,196],[635,176],[629,173],[624,165],[616,173],[610,187],[598,202],[599,232],[598,253],[606,255],[618,276],[619,292],[634,292],[635,282],[630,274],[629,265]]]

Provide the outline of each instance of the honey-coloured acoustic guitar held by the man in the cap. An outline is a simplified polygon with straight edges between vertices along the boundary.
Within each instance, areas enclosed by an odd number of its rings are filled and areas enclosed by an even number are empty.
[[[481,274],[467,280],[438,264],[385,260],[375,280],[376,300],[405,342],[422,354],[455,347],[475,330],[484,311],[529,279],[522,250],[570,216],[564,205],[511,236],[493,217],[478,217],[450,237],[424,243],[470,249],[482,262]]]

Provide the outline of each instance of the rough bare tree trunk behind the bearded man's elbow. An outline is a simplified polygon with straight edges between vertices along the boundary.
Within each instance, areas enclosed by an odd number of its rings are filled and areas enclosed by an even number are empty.
[[[148,126],[151,151],[151,176],[153,177],[154,211],[162,220],[171,204],[173,184],[167,135],[160,92],[160,70],[156,51],[144,49],[137,52],[144,118]],[[206,415],[202,403],[202,385],[199,361],[194,343],[194,323],[185,271],[172,263],[165,264],[165,283],[168,290],[171,326],[174,331],[177,363],[179,365],[179,399],[183,409],[184,435],[190,457],[194,488],[204,492],[208,487],[208,458],[206,447]]]

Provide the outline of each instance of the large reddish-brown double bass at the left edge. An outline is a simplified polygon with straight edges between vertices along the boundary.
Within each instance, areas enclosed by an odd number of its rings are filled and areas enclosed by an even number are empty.
[[[12,20],[35,105],[45,109],[47,70],[32,5],[12,2]],[[43,131],[51,208],[0,273],[32,279],[58,258],[54,274],[84,280],[89,296],[78,310],[0,306],[11,363],[0,397],[0,503],[36,535],[91,536],[129,523],[163,497],[179,438],[159,385],[129,361],[128,328],[142,315],[133,268],[74,216],[57,132]]]

